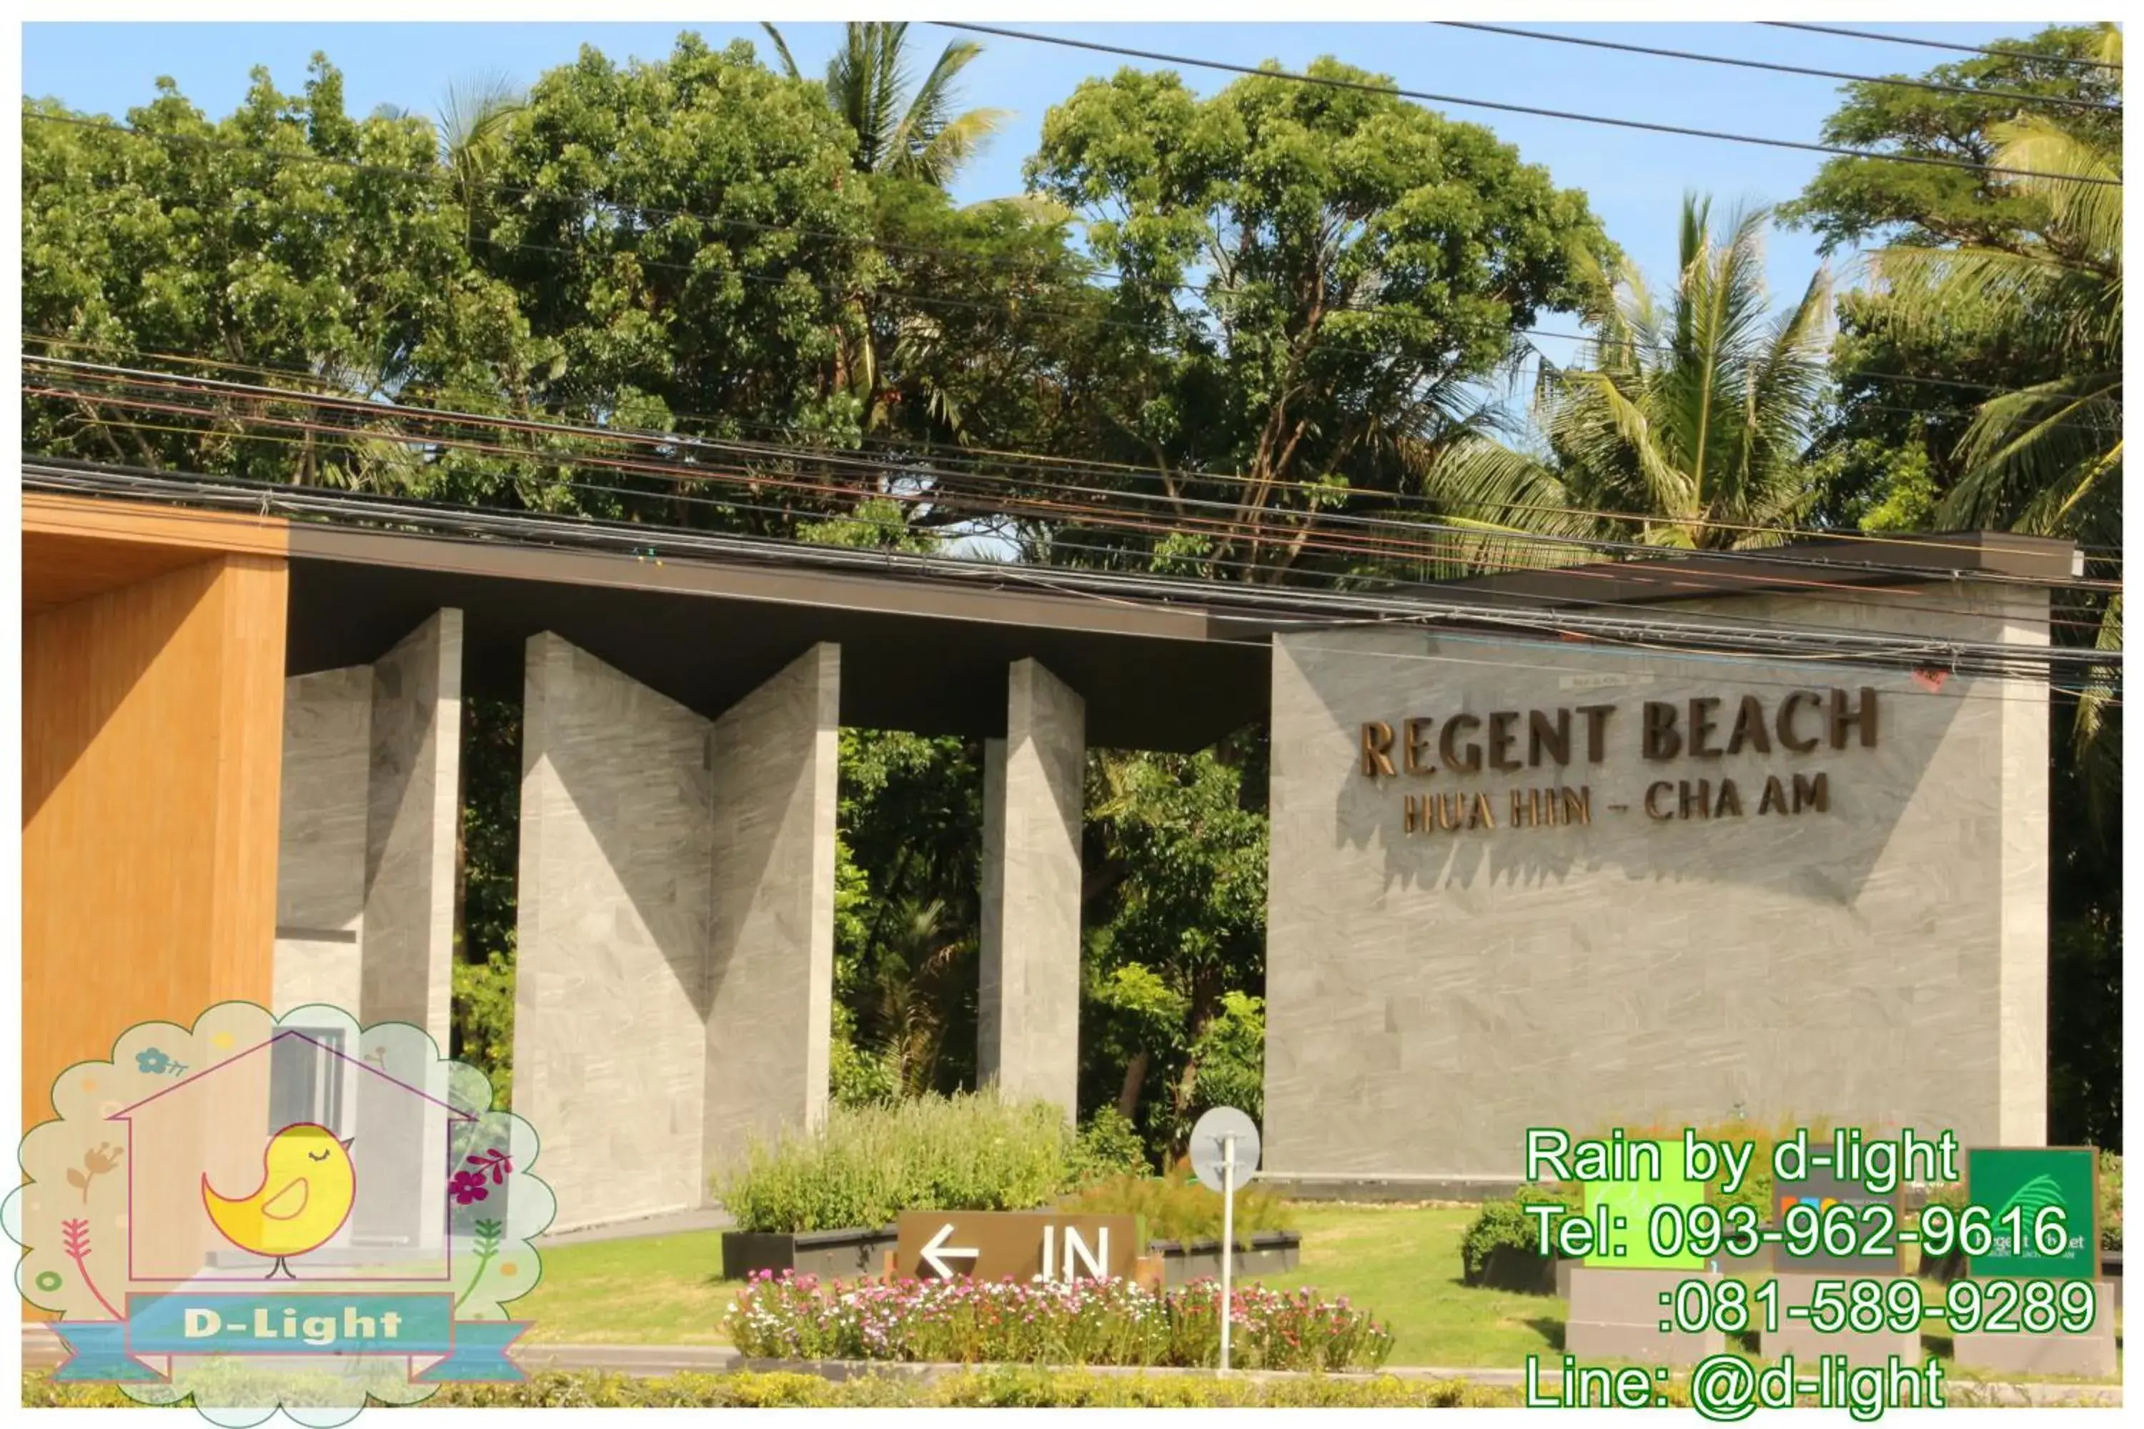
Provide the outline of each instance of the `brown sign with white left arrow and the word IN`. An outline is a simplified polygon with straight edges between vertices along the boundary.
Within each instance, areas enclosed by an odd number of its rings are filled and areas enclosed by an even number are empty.
[[[1115,1279],[1145,1249],[1138,1217],[1055,1210],[903,1210],[894,1268],[913,1279]]]

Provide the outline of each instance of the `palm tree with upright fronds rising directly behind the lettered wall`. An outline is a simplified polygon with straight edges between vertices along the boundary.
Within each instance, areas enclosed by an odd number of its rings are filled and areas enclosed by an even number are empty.
[[[1803,471],[1825,383],[1831,283],[1769,317],[1769,212],[1711,231],[1711,201],[1683,199],[1681,261],[1666,306],[1638,270],[1582,257],[1580,364],[1542,364],[1537,416],[1578,508],[1642,518],[1642,540],[1683,548],[1765,546],[1812,501]]]

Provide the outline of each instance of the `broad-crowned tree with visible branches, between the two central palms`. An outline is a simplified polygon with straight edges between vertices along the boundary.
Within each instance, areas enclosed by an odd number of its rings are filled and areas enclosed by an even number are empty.
[[[1484,420],[1514,330],[1578,300],[1574,251],[1608,253],[1584,197],[1486,129],[1265,75],[1214,99],[1173,73],[1089,79],[1048,111],[1027,178],[1117,274],[1085,364],[1089,452],[1151,471],[1121,491],[1175,527],[1175,568],[1229,578],[1344,574],[1327,518],[1419,488]],[[1074,536],[1158,555],[1151,536]]]

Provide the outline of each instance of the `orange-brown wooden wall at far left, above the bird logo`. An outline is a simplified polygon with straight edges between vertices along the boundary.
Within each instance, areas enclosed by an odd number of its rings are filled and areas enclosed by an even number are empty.
[[[24,621],[24,1125],[144,1020],[268,1003],[289,576],[210,555]]]

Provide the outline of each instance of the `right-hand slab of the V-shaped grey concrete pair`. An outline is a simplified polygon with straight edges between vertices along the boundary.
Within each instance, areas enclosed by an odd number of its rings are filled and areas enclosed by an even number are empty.
[[[834,773],[840,647],[815,645],[714,722],[708,1140],[718,1174],[753,1135],[825,1118],[834,1031]]]

